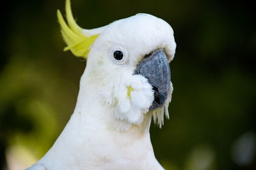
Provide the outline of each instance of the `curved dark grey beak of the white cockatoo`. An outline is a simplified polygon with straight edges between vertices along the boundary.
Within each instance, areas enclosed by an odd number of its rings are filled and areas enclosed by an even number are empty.
[[[155,50],[141,60],[134,74],[148,79],[154,90],[154,102],[149,110],[163,106],[170,89],[171,71],[164,50]]]

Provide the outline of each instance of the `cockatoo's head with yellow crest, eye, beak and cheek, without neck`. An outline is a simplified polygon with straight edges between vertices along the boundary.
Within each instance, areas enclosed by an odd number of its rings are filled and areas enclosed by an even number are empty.
[[[67,43],[64,50],[87,60],[81,86],[97,89],[100,102],[113,109],[113,118],[127,124],[124,131],[131,125],[148,127],[151,117],[161,127],[173,90],[172,27],[161,18],[139,13],[97,29],[82,29],[72,16],[70,0],[66,14],[68,24],[57,13]]]

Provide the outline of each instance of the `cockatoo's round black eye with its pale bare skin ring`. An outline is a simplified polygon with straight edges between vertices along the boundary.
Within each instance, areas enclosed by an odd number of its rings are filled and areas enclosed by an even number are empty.
[[[109,57],[115,64],[123,65],[128,62],[127,51],[122,46],[113,46],[111,50],[109,50]]]

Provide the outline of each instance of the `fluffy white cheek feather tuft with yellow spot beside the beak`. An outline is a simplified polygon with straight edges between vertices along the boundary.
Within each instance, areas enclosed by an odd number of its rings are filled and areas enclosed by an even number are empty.
[[[115,118],[125,120],[129,124],[141,124],[143,115],[148,112],[154,100],[152,87],[147,83],[147,79],[140,75],[123,78],[121,84],[114,88],[114,91],[118,92],[113,96],[117,100]]]

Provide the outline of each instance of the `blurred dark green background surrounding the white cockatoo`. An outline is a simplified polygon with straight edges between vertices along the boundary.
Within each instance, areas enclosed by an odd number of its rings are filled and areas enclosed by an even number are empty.
[[[100,27],[136,13],[175,32],[170,120],[152,125],[166,169],[256,169],[255,7],[249,1],[72,0],[77,23]],[[58,138],[86,62],[63,52],[65,0],[1,4],[0,169],[24,169]]]

